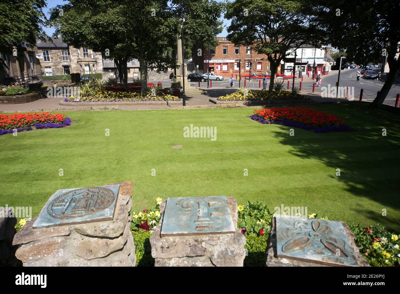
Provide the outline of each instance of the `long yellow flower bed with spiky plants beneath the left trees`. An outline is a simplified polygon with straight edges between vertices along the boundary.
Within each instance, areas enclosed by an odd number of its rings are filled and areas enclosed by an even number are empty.
[[[135,102],[135,101],[180,101],[179,97],[170,94],[162,96],[143,95],[136,92],[114,92],[104,91],[98,92],[92,96],[76,97],[70,96],[64,102]]]

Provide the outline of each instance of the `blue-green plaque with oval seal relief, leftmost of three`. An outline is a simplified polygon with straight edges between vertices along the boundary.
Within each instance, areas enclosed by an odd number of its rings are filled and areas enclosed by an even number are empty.
[[[58,190],[32,228],[112,220],[119,190],[120,185]]]

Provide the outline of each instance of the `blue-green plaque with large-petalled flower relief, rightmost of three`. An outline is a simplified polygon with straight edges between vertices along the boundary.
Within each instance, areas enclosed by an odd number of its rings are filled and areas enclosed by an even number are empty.
[[[330,266],[358,266],[341,222],[276,217],[276,256]]]

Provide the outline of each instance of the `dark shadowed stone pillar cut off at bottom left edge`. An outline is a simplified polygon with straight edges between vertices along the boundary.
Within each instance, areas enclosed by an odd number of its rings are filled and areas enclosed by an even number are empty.
[[[17,266],[18,260],[15,258],[16,246],[12,245],[14,238],[15,225],[17,219],[14,217],[12,208],[0,207],[0,266]]]

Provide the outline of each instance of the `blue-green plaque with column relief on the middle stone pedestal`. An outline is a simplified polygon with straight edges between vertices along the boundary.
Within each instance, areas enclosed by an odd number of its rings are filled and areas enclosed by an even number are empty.
[[[168,198],[160,236],[234,233],[226,196]]]

